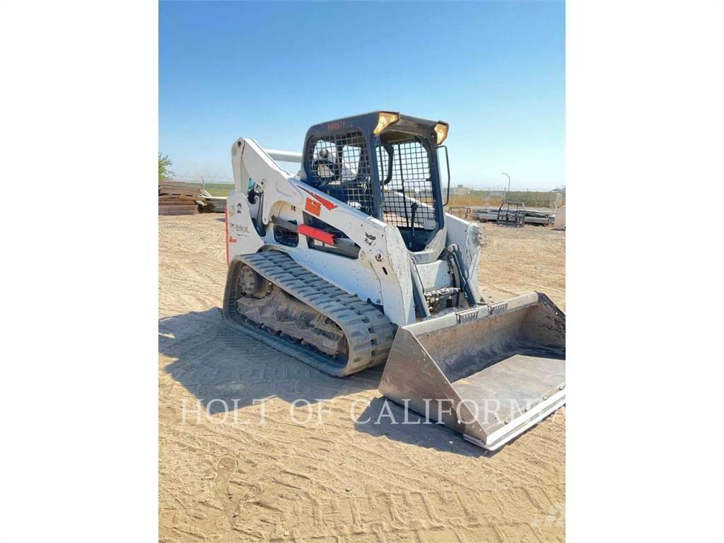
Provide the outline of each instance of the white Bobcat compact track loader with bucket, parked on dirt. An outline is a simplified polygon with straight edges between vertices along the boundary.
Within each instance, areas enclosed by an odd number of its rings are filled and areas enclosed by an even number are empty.
[[[382,394],[494,450],[565,402],[565,316],[479,287],[484,230],[445,213],[447,130],[375,111],[302,153],[237,140],[224,316],[334,376],[386,363]]]

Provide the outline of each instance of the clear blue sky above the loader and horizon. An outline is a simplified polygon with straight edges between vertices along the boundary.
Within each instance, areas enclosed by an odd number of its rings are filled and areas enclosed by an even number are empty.
[[[565,184],[563,2],[159,4],[159,150],[231,176],[239,137],[301,151],[317,122],[450,123],[452,182]]]

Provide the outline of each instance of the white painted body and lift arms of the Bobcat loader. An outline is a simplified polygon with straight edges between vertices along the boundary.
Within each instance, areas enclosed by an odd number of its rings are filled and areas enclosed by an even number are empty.
[[[288,151],[275,153],[287,160],[295,157]],[[227,200],[230,261],[237,255],[256,253],[264,246],[274,247],[289,253],[295,261],[334,285],[362,300],[369,299],[382,305],[387,319],[398,326],[416,321],[408,249],[397,228],[335,201],[302,182],[279,167],[250,138],[241,138],[232,146],[232,166],[235,190]],[[261,215],[259,203],[250,204],[247,198],[250,186],[255,185],[264,191]],[[308,200],[319,203],[321,220],[345,232],[360,246],[358,260],[309,251],[301,236],[297,247],[279,245],[271,229],[262,237],[251,222],[251,217],[259,215],[265,225],[271,223],[272,217],[302,224],[302,213]],[[438,235],[445,238],[446,245],[457,244],[463,248],[460,252],[470,276],[467,279],[477,282],[479,248],[483,239],[481,227],[451,214],[446,214],[445,219],[445,227]],[[417,269],[425,290],[450,287],[446,261],[418,264]]]

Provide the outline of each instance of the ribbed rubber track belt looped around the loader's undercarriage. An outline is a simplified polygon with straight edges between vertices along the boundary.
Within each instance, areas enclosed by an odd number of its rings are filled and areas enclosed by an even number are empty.
[[[394,335],[392,324],[374,306],[325,281],[280,251],[239,256],[235,261],[250,266],[287,294],[332,319],[345,334],[350,356],[347,365],[342,366],[340,361],[324,353],[310,350],[305,345],[286,340],[240,319],[236,313],[236,300],[230,299],[233,296],[230,296],[232,285],[229,282],[236,280],[232,277],[234,274],[230,267],[227,295],[224,297],[224,316],[232,327],[334,376],[353,374],[387,360]]]

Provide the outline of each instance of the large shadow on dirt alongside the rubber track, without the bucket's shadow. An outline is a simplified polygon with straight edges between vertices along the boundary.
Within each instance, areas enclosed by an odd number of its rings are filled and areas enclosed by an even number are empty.
[[[159,353],[177,358],[165,371],[211,414],[269,397],[313,404],[376,391],[382,376],[379,366],[345,378],[324,374],[227,327],[217,307],[159,319]]]

